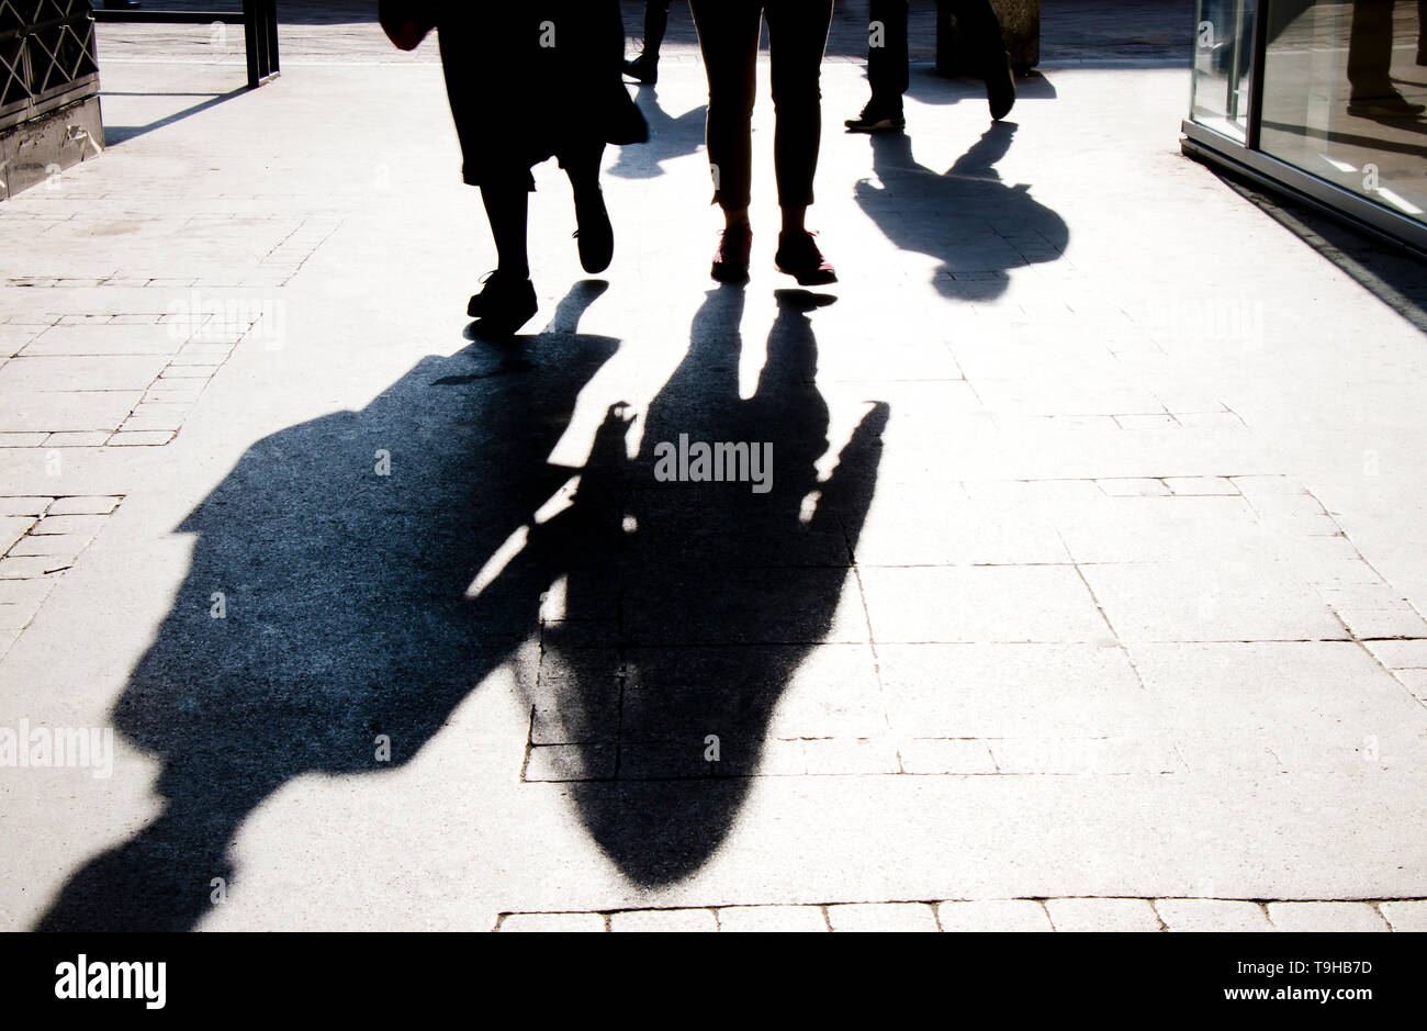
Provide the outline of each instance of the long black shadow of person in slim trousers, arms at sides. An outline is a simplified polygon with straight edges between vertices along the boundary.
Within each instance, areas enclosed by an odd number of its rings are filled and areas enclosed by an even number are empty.
[[[534,740],[577,751],[581,820],[645,887],[716,851],[779,697],[836,630],[889,410],[872,403],[819,483],[829,414],[811,313],[823,300],[778,294],[758,388],[742,398],[743,293],[711,291],[636,457],[628,413],[611,408],[572,504],[532,537],[542,565],[568,570],[564,613],[544,627]],[[681,438],[689,478],[669,480],[661,463]],[[763,447],[766,491],[752,478],[695,480],[701,441]]]

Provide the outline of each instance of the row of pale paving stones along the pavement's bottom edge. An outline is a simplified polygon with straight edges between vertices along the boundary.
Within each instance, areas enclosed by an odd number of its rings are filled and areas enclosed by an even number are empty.
[[[983,898],[502,912],[495,931],[1424,931],[1427,900]]]

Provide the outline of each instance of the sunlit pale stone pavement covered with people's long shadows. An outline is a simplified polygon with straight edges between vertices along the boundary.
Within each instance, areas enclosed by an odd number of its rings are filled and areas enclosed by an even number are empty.
[[[842,283],[765,99],[739,291],[675,41],[499,348],[424,56],[104,66],[0,206],[0,728],[113,768],[0,768],[0,925],[1420,928],[1427,277],[1184,160],[1186,77],[868,140],[831,61]]]

